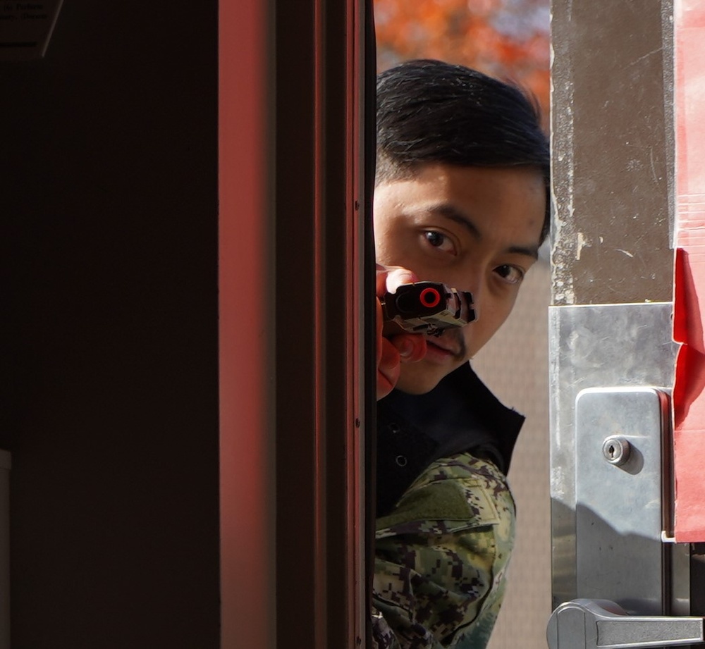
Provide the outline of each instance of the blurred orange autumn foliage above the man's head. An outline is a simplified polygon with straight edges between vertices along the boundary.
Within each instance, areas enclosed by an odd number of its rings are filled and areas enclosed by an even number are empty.
[[[439,58],[510,80],[548,115],[548,0],[374,0],[377,67]]]

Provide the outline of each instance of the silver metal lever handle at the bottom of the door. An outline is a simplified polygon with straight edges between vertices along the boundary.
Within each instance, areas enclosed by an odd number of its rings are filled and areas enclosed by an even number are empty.
[[[549,649],[673,647],[703,642],[703,618],[627,615],[608,600],[572,600],[548,619]]]

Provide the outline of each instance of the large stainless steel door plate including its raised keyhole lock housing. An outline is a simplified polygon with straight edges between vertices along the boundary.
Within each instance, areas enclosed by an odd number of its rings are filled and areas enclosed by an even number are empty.
[[[662,531],[671,534],[668,393],[678,352],[670,336],[673,304],[551,307],[549,314],[556,350],[553,608],[591,598],[618,602],[635,614],[687,615],[687,548],[661,547]],[[621,393],[625,388],[636,391]],[[625,446],[603,448],[615,435],[611,442],[629,443],[628,457]]]

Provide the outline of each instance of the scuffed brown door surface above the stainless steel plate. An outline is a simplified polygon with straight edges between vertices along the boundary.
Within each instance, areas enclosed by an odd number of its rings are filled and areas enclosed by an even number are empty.
[[[554,0],[552,13],[553,304],[668,301],[670,6]]]

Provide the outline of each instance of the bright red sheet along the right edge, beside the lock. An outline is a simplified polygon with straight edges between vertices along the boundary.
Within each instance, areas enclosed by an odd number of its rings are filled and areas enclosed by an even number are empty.
[[[705,541],[705,4],[675,0],[675,539]]]

